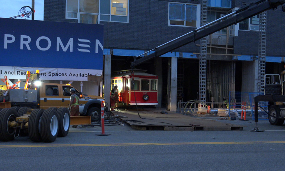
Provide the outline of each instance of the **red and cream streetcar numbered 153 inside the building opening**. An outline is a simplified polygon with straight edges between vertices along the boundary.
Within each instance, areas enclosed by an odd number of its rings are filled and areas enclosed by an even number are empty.
[[[146,70],[134,70],[134,85],[131,70],[112,73],[111,89],[118,86],[119,101],[124,105],[157,105],[157,79]],[[134,94],[135,91],[135,94]]]

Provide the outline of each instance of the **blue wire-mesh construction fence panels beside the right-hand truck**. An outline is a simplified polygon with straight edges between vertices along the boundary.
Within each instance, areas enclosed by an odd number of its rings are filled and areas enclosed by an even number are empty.
[[[244,102],[246,104],[246,119],[254,120],[254,97],[262,94],[263,93],[258,92],[229,92],[229,99],[227,99],[227,101],[229,102],[229,109],[235,110],[238,115],[237,117],[240,118],[240,114],[242,112],[242,102]],[[258,106],[261,106],[266,112],[268,112],[267,105],[267,101],[260,101],[258,103]],[[268,119],[268,115],[264,110],[258,107],[258,120]]]

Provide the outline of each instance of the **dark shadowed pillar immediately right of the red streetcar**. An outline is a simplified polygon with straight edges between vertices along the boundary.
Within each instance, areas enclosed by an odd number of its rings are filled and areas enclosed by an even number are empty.
[[[157,81],[157,105],[156,108],[161,108],[162,100],[162,58],[155,58],[155,74],[158,76]]]

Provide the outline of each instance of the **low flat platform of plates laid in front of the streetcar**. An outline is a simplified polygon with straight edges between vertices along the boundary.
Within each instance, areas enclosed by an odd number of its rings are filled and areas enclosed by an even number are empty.
[[[166,111],[168,114],[162,114],[163,109],[147,108],[137,110],[116,110],[112,111],[114,115],[126,116],[121,118],[132,128],[138,130],[165,130],[165,131],[230,131],[243,130],[240,125],[222,123],[212,119],[201,119],[183,115],[177,112]],[[142,119],[144,118],[144,119]]]

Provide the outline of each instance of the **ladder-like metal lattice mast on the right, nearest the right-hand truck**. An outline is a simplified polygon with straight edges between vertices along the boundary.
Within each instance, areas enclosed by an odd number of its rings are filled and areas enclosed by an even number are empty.
[[[259,15],[258,39],[258,92],[264,93],[265,57],[266,57],[266,12]]]

